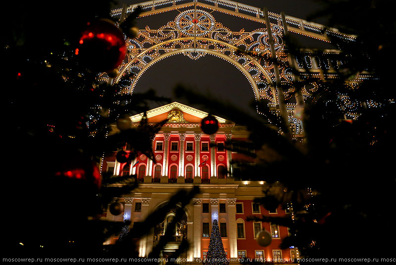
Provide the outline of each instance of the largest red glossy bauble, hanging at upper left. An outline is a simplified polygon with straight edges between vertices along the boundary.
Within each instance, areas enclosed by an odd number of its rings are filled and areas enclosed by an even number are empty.
[[[126,46],[124,35],[113,21],[99,19],[88,23],[82,33],[80,46],[76,55],[89,69],[98,72],[111,71],[117,68],[125,58]]]

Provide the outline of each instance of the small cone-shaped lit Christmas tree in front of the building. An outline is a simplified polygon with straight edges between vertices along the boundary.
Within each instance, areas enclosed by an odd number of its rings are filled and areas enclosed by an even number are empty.
[[[227,255],[224,251],[223,241],[219,231],[217,220],[213,221],[212,232],[210,233],[209,249],[204,265],[228,265]]]

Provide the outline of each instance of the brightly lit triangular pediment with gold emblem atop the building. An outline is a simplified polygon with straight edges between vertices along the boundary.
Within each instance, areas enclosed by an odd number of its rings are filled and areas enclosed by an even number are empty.
[[[168,119],[168,123],[200,123],[201,120],[208,115],[207,112],[198,110],[196,108],[187,106],[179,102],[172,102],[170,104],[157,107],[147,111],[147,118],[149,123],[157,123]],[[224,118],[214,116],[220,124],[233,124]],[[131,116],[132,122],[140,122],[143,118],[143,113]]]

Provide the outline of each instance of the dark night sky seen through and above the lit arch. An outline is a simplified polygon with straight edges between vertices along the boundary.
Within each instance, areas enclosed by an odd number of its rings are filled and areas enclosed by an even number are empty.
[[[129,0],[126,3],[140,2],[142,1]],[[240,0],[240,2],[256,7],[266,6],[270,12],[280,13],[284,11],[287,15],[303,19],[319,8],[318,4],[311,0]],[[172,11],[151,15],[140,19],[138,26],[144,28],[148,25],[151,29],[158,29],[168,21],[173,21],[177,14],[178,11]],[[216,22],[222,23],[233,31],[239,31],[242,28],[246,31],[252,31],[260,28],[259,23],[218,12],[212,14]],[[183,54],[178,54],[157,62],[142,75],[134,93],[154,88],[159,95],[170,97],[173,101],[189,104],[187,101],[174,97],[173,88],[178,83],[202,93],[210,91],[211,94],[221,100],[230,101],[250,113],[255,113],[248,107],[250,102],[254,101],[254,93],[247,78],[231,63],[209,54],[198,60],[192,60]],[[156,106],[152,105],[152,107]],[[201,106],[192,106],[202,109]]]

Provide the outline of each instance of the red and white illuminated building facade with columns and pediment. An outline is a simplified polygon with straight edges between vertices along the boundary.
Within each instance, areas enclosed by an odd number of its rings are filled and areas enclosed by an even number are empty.
[[[248,258],[293,263],[298,255],[297,250],[281,249],[279,246],[282,238],[288,236],[287,227],[246,221],[248,216],[285,217],[289,214],[281,207],[269,212],[253,202],[254,198],[262,196],[265,181],[241,181],[233,177],[231,162],[247,158],[227,150],[225,145],[231,139],[246,141],[248,132],[231,121],[216,117],[219,121],[217,133],[204,134],[200,121],[207,115],[177,102],[147,112],[149,123],[168,119],[152,139],[155,163],[146,155],[138,156],[130,164],[117,162],[115,155],[104,159],[102,172],[112,172],[115,176],[136,174],[141,182],[137,189],[119,198],[125,204],[124,212],[113,216],[107,211],[106,219],[129,219],[134,225],[144,221],[149,213],[166,203],[178,190],[188,190],[198,185],[200,193],[185,207],[185,217],[174,231],[174,242],[168,243],[163,250],[164,258],[175,251],[182,240],[188,240],[192,247],[182,258],[189,263],[199,263],[199,259],[205,259],[211,226],[216,219],[227,257],[234,259],[231,262],[239,263],[238,258]],[[137,126],[142,117],[143,114],[130,117],[133,126]],[[128,152],[128,148],[125,151]],[[140,257],[147,257],[174,216],[173,212],[168,213],[150,234],[141,238]],[[256,235],[262,229],[272,236],[272,242],[267,247],[260,246],[256,241]],[[113,244],[117,239],[113,236],[106,244]]]

